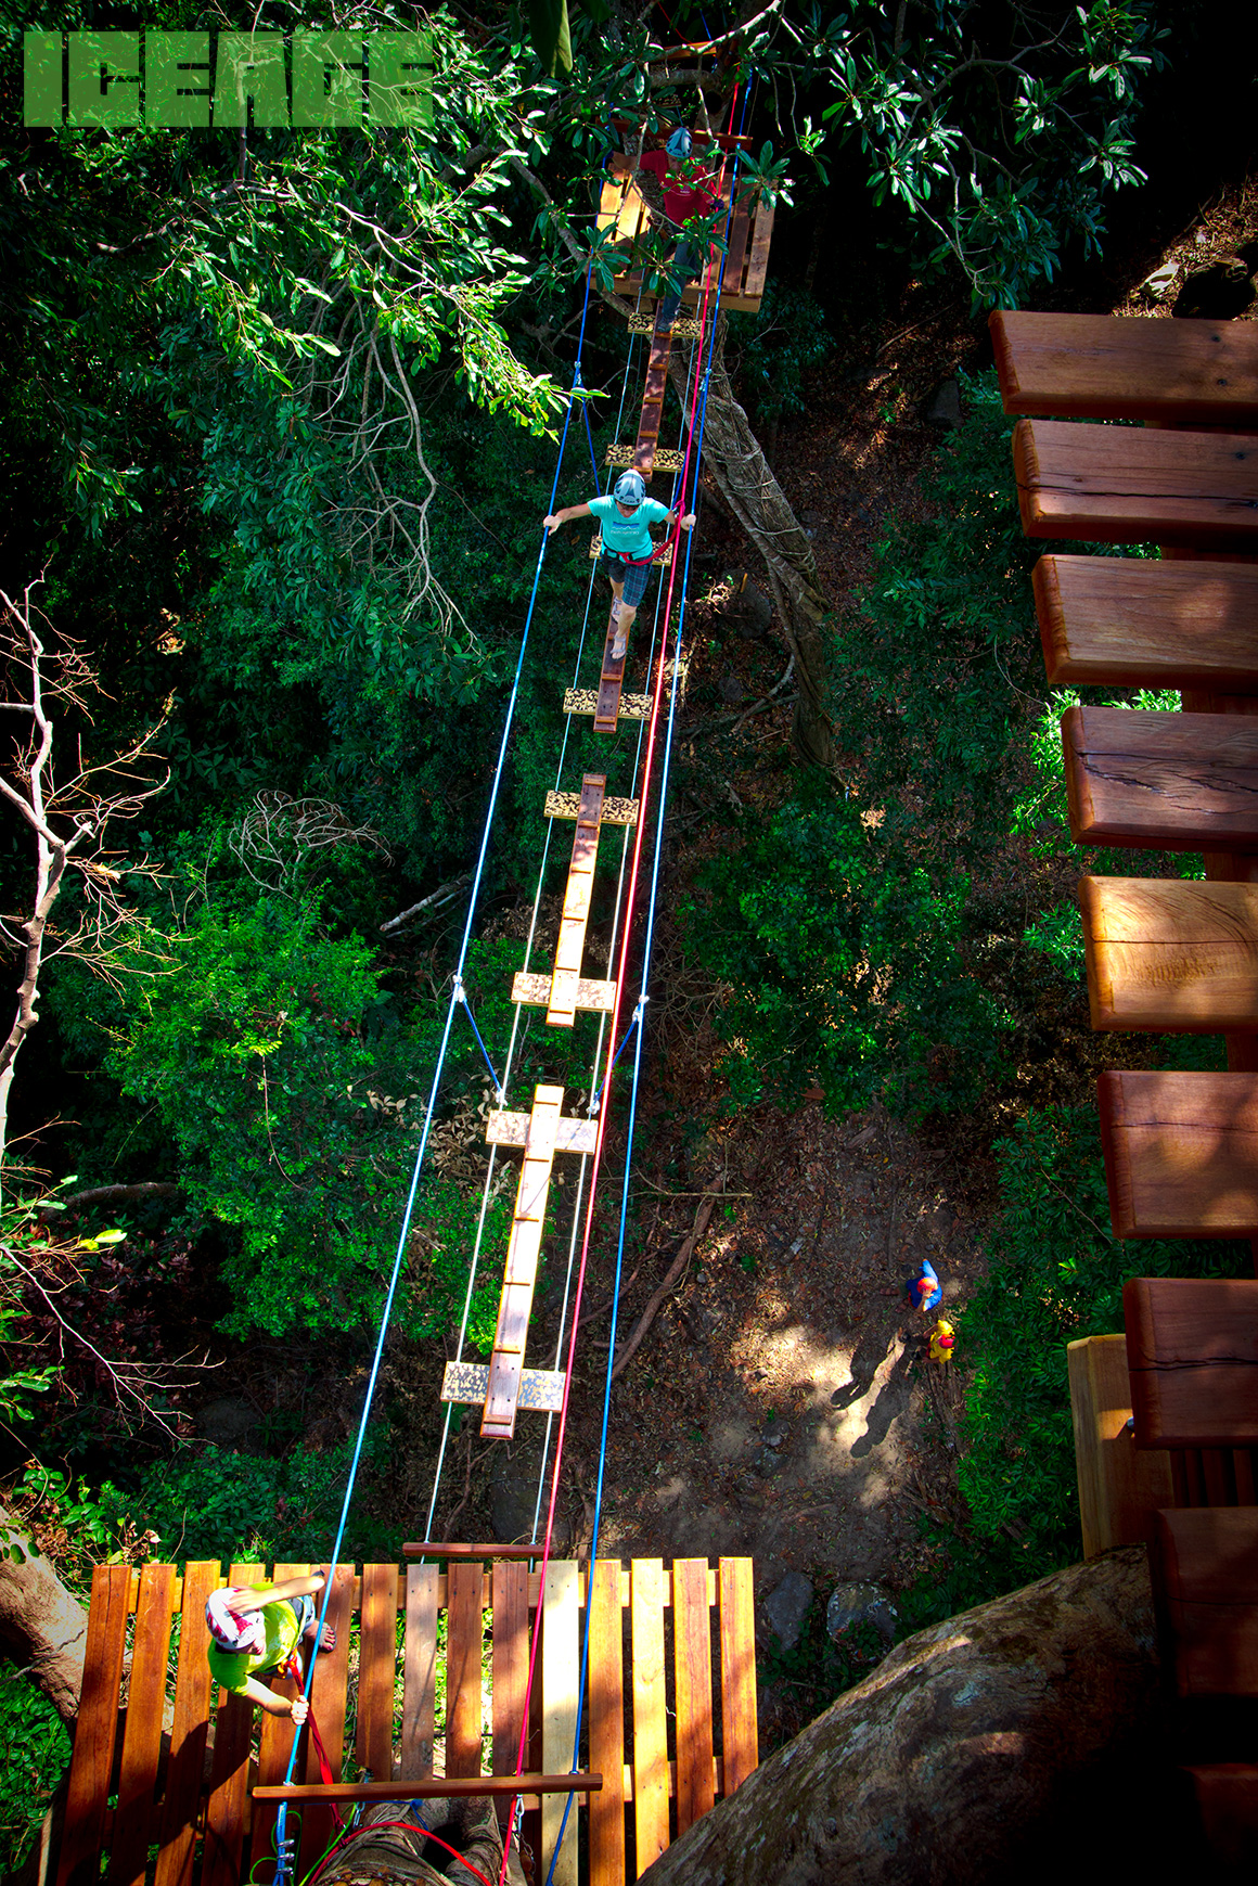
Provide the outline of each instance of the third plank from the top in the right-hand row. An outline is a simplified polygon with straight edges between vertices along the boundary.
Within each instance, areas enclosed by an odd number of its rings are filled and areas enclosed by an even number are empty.
[[[1051,554],[1032,583],[1054,687],[1258,694],[1258,566]]]

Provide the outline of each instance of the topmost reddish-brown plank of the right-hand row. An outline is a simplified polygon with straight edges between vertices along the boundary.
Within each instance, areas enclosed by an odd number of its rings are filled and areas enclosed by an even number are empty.
[[[988,315],[1005,411],[1062,419],[1258,421],[1258,332],[1150,315]]]

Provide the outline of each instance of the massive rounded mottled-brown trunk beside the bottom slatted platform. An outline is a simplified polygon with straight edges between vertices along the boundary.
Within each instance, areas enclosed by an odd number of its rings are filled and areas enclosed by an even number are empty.
[[[1190,1835],[1160,1737],[1149,1567],[1128,1547],[905,1639],[643,1886],[1162,1880]]]

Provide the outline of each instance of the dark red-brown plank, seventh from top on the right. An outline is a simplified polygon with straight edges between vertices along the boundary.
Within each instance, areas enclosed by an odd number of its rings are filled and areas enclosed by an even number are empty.
[[[1258,1447],[1254,1279],[1132,1277],[1122,1316],[1137,1447]]]

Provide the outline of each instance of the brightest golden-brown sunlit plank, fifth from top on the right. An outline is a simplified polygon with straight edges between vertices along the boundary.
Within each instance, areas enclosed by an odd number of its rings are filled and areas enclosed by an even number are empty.
[[[1258,1030],[1258,885],[1081,877],[1092,1026]]]

